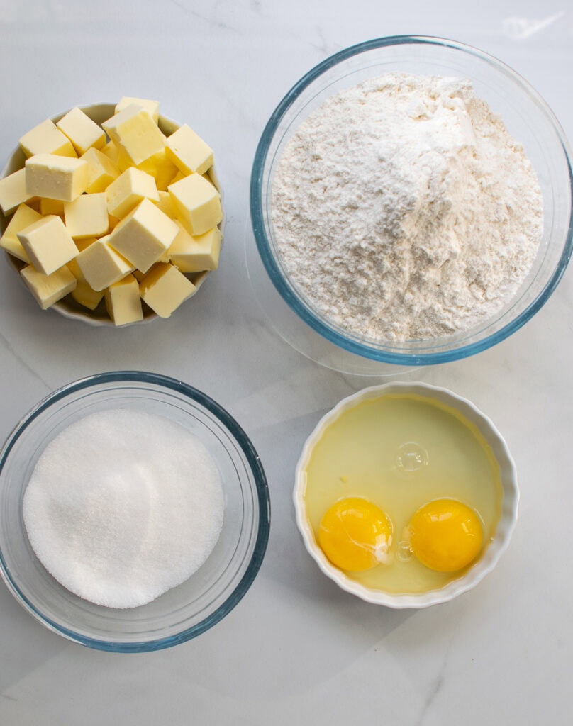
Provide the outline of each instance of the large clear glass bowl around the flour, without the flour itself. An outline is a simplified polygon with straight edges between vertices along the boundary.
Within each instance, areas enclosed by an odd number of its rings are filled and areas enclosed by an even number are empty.
[[[524,146],[542,190],[544,227],[532,270],[494,317],[442,338],[375,341],[344,330],[298,292],[277,251],[271,221],[272,184],[285,144],[298,126],[342,89],[385,73],[468,78],[476,96],[503,118]],[[306,73],[272,113],[251,174],[251,221],[261,260],[290,308],[316,333],[351,353],[386,363],[421,365],[464,358],[499,343],[548,300],[564,273],[573,245],[572,163],[564,133],[548,106],[521,76],[499,60],[455,41],[395,36],[342,50]]]

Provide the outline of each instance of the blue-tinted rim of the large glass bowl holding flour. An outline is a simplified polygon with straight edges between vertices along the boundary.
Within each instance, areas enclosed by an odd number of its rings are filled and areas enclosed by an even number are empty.
[[[431,36],[389,36],[387,38],[374,38],[373,40],[350,46],[349,48],[346,48],[339,51],[338,53],[331,55],[327,59],[320,62],[318,65],[314,66],[314,68],[309,70],[309,72],[306,73],[306,75],[303,76],[300,81],[295,83],[295,85],[290,89],[290,91],[288,91],[288,93],[285,95],[279,105],[277,105],[271,117],[269,118],[267,125],[264,127],[264,131],[261,134],[261,139],[259,140],[259,144],[256,148],[255,157],[253,160],[253,169],[251,171],[251,224],[253,226],[253,234],[256,240],[257,248],[259,250],[259,255],[261,256],[261,261],[263,262],[264,267],[267,270],[267,274],[269,274],[273,285],[275,285],[278,293],[280,293],[281,297],[283,298],[285,303],[288,304],[290,309],[292,309],[298,315],[298,317],[304,320],[307,325],[312,327],[313,330],[315,330],[317,333],[320,333],[320,335],[322,335],[327,340],[330,340],[330,342],[334,343],[336,346],[344,348],[344,350],[346,351],[365,358],[369,358],[379,362],[399,365],[427,365],[459,360],[467,358],[468,356],[472,356],[481,351],[487,350],[487,348],[490,348],[497,343],[500,343],[502,340],[505,340],[505,338],[508,338],[509,335],[515,333],[516,330],[519,330],[520,327],[525,325],[525,323],[542,308],[542,306],[550,298],[553,290],[555,290],[555,288],[557,287],[558,282],[561,280],[561,277],[563,277],[567,264],[569,264],[569,259],[572,255],[573,205],[569,213],[569,230],[566,235],[564,249],[561,253],[558,264],[556,265],[556,269],[550,277],[550,280],[548,280],[545,287],[543,287],[539,295],[537,295],[537,298],[535,298],[535,300],[532,301],[532,303],[530,303],[529,306],[524,309],[524,311],[522,311],[515,319],[511,320],[511,322],[508,322],[508,324],[505,325],[503,328],[501,328],[500,330],[496,330],[495,333],[488,335],[486,338],[482,338],[481,340],[476,340],[474,343],[468,343],[465,346],[459,346],[458,348],[452,348],[446,351],[434,351],[429,353],[397,353],[393,351],[381,350],[380,348],[368,345],[367,343],[358,343],[355,340],[345,338],[344,335],[341,335],[340,333],[338,333],[337,330],[326,325],[325,322],[322,321],[322,319],[314,315],[313,312],[309,310],[296,297],[296,295],[293,294],[293,291],[285,282],[283,273],[280,271],[280,268],[275,261],[275,257],[272,254],[269,240],[267,239],[267,234],[264,231],[262,184],[264,166],[267,162],[267,154],[269,152],[270,144],[272,143],[273,136],[275,136],[275,132],[277,131],[280,122],[283,120],[285,114],[288,113],[288,110],[290,109],[291,105],[293,105],[293,102],[295,102],[295,100],[302,93],[302,91],[304,91],[304,89],[306,89],[313,81],[321,76],[322,73],[325,73],[325,71],[333,68],[333,66],[337,65],[338,63],[360,53],[364,53],[366,51],[381,48],[384,46],[407,44],[447,46],[452,49],[461,50],[463,52],[478,57],[480,60],[486,60],[491,65],[501,70],[505,75],[511,76],[512,78],[519,81],[521,86],[524,86],[527,89],[528,93],[532,97],[535,97],[537,104],[540,106],[540,108],[542,108],[545,115],[548,116],[551,123],[553,123],[553,126],[555,127],[556,133],[559,138],[559,142],[561,143],[561,148],[564,151],[564,155],[567,161],[567,166],[569,170],[569,189],[573,189],[573,169],[571,162],[571,153],[569,152],[569,147],[560,124],[558,123],[557,119],[553,115],[553,112],[550,110],[548,105],[537,93],[537,91],[535,91],[532,86],[529,86],[529,83],[527,83],[524,78],[519,76],[519,74],[516,73],[512,68],[510,68],[508,65],[505,65],[505,63],[501,62],[500,60],[497,60],[497,58],[487,53],[484,53],[472,46],[458,43],[457,41],[452,41],[447,38],[434,38]]]

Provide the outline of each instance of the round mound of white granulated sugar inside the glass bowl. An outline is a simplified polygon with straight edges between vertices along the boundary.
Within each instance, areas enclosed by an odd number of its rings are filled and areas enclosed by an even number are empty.
[[[86,415],[36,463],[23,515],[38,560],[71,592],[134,608],[205,562],[223,523],[219,472],[206,447],[164,417]]]

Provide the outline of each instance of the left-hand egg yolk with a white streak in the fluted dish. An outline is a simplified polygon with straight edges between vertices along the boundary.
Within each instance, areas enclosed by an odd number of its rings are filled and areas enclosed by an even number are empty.
[[[318,543],[341,570],[359,572],[388,560],[392,530],[381,509],[362,497],[339,499],[322,517]]]

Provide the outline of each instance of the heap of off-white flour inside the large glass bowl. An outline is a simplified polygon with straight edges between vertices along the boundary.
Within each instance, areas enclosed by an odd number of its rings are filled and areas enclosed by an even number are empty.
[[[438,338],[516,293],[540,245],[542,195],[470,81],[389,74],[301,123],[273,181],[272,223],[320,314],[373,340]]]

